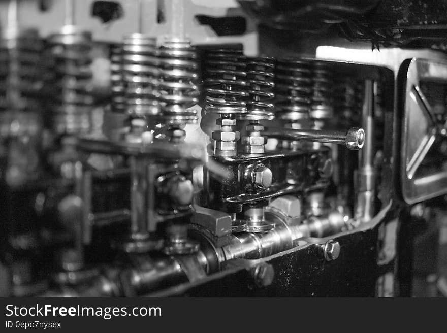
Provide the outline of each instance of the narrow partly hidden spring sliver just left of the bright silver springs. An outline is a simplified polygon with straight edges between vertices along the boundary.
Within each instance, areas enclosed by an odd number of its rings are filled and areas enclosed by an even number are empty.
[[[122,45],[110,46],[110,81],[112,89],[111,110],[125,112],[124,83],[122,76]]]

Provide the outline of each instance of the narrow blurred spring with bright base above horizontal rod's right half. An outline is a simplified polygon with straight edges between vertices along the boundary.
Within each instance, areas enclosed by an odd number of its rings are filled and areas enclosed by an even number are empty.
[[[322,129],[328,119],[332,119],[334,108],[332,103],[333,73],[328,63],[313,62],[313,96],[310,117],[315,129]]]

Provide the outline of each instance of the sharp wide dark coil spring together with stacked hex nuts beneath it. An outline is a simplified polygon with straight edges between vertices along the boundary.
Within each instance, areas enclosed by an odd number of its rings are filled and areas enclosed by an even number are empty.
[[[235,130],[235,115],[247,112],[249,97],[246,66],[241,50],[212,49],[206,53],[205,114],[220,116],[216,120],[220,128],[212,133],[215,156],[237,155],[240,134]]]

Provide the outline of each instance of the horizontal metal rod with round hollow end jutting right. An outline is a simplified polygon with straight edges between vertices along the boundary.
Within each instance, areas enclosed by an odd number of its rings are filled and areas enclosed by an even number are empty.
[[[268,128],[262,135],[282,140],[300,140],[310,142],[334,143],[345,145],[348,149],[359,150],[365,143],[362,128],[349,128],[347,131],[327,129]]]

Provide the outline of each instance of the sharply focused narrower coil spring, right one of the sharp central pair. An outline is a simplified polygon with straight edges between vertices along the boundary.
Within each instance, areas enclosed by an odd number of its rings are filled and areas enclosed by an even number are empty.
[[[273,58],[247,58],[247,82],[249,85],[247,113],[240,116],[245,120],[271,120],[274,118],[273,88],[275,63]]]

